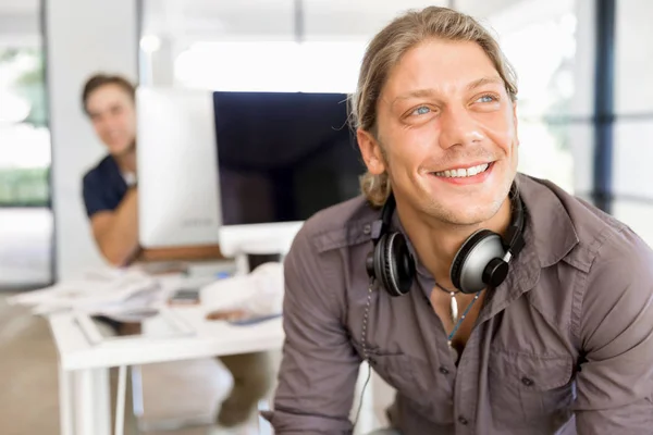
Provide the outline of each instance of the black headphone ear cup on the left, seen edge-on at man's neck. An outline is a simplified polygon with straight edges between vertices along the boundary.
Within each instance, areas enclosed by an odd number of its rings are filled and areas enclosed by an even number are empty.
[[[374,253],[379,260],[374,270],[386,291],[391,296],[407,294],[415,278],[415,261],[404,235],[392,233],[383,236]]]

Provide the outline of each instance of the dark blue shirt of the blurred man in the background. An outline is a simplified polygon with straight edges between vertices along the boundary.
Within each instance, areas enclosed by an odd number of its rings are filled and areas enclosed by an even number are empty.
[[[127,194],[127,183],[111,156],[84,175],[84,206],[91,217],[99,211],[113,211]]]

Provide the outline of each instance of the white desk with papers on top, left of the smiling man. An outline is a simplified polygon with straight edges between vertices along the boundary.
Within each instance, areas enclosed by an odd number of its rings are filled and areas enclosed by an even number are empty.
[[[204,320],[204,309],[175,308],[194,335],[123,338],[93,345],[72,313],[49,318],[59,351],[62,435],[109,435],[109,368],[281,349],[281,319],[250,326]],[[124,373],[121,373],[123,376]],[[119,391],[119,397],[122,391]]]

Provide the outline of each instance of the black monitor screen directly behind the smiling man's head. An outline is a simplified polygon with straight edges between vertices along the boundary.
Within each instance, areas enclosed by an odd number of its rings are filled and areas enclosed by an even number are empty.
[[[213,94],[223,225],[304,221],[359,194],[346,98]]]

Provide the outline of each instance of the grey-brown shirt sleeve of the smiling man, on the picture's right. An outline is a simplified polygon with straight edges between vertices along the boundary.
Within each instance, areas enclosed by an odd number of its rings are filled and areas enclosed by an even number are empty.
[[[653,427],[653,257],[630,231],[617,237],[595,259],[582,301],[579,435]]]

